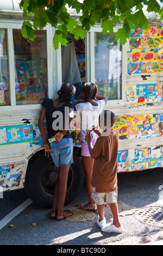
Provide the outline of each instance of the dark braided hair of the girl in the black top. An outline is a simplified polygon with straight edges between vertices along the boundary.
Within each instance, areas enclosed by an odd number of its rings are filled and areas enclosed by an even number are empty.
[[[60,102],[70,102],[73,95],[76,93],[76,88],[72,83],[64,83],[58,91],[58,99]]]

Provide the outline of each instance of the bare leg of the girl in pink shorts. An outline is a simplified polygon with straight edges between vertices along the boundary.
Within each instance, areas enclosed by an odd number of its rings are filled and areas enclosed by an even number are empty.
[[[91,185],[91,179],[92,179],[92,172],[93,172],[93,163],[94,160],[91,156],[82,156],[82,162],[83,167],[85,169],[85,181],[86,181],[86,188],[87,188],[87,194],[89,196],[89,201],[91,204],[95,204],[95,201],[91,198],[92,194],[92,185]],[[90,209],[94,209],[93,206],[89,206]]]

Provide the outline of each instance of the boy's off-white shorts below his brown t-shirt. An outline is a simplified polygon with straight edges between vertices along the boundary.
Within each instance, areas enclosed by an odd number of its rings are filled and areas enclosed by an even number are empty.
[[[96,204],[102,205],[104,203],[114,204],[117,203],[118,191],[106,192],[106,193],[97,193],[96,187],[93,187],[91,197]]]

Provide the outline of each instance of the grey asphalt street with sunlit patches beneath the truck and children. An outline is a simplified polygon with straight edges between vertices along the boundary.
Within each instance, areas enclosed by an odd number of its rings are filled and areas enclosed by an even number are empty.
[[[136,212],[149,206],[161,207],[158,201],[161,191],[163,168],[118,174],[122,234],[102,232],[96,224],[97,213],[79,209],[78,204],[87,203],[85,183],[76,199],[65,206],[65,209],[73,209],[74,215],[63,221],[51,220],[49,210],[30,202],[23,190],[5,192],[0,199],[0,245],[104,246],[160,231],[160,227],[137,220]],[[105,211],[109,223],[112,217],[108,206]]]

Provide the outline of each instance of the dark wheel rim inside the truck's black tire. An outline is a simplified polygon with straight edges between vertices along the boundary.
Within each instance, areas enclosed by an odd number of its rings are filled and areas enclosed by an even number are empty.
[[[55,167],[53,161],[42,168],[40,172],[40,187],[46,196],[53,198],[55,181],[57,180],[57,167]],[[73,164],[70,166],[67,178],[67,192],[71,190],[74,182],[74,168]]]

